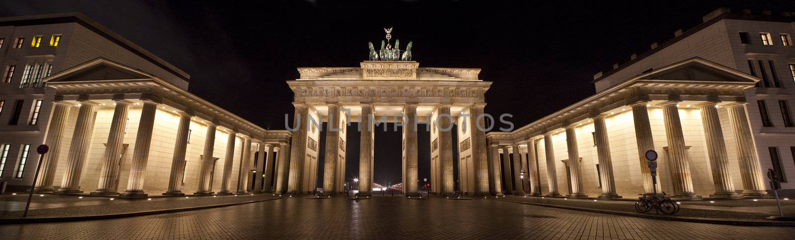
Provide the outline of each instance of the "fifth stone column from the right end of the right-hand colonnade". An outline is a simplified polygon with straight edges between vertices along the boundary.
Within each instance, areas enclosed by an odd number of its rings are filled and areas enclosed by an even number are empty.
[[[596,157],[599,158],[599,175],[602,176],[602,194],[600,199],[621,198],[615,193],[615,176],[613,175],[613,160],[610,155],[610,140],[607,138],[607,125],[605,125],[604,114],[599,114],[594,118],[594,132]]]

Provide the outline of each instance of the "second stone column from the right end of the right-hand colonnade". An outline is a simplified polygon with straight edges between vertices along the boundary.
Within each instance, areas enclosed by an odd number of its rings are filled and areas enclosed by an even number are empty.
[[[720,117],[716,103],[708,102],[699,105],[701,122],[704,125],[704,138],[707,140],[709,164],[712,167],[712,183],[715,194],[712,197],[740,198],[735,192],[735,184],[731,181],[729,158],[726,153],[726,141],[720,128]]]

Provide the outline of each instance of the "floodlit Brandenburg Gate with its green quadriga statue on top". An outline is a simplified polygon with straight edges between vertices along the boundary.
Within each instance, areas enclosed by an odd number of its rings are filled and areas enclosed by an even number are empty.
[[[402,146],[394,147],[403,152],[404,194],[416,196],[417,127],[425,126],[431,136],[431,192],[454,193],[453,161],[459,161],[461,192],[488,195],[494,167],[488,162],[483,132],[487,121],[482,114],[486,106],[483,95],[491,82],[478,79],[479,68],[420,68],[411,60],[412,43],[400,50],[399,41],[395,41],[393,47],[391,29],[385,30],[386,45],[382,41],[382,48],[376,51],[370,44],[370,60],[358,68],[298,68],[300,79],[287,81],[295,106],[287,193],[308,193],[316,188],[318,159],[324,154],[324,195],[342,192],[345,162],[359,161],[359,186],[364,186],[359,188],[359,197],[370,196],[374,134],[402,126]],[[321,121],[328,122],[325,153],[318,150]],[[351,122],[359,122],[359,160],[345,159],[345,133],[357,130],[350,127]],[[397,126],[387,129],[386,122]],[[458,159],[453,159],[452,153],[453,124],[458,126]]]

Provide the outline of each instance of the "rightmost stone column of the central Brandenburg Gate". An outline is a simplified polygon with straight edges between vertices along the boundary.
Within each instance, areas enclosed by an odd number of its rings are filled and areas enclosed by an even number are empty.
[[[489,194],[489,166],[486,142],[486,120],[482,118],[485,103],[476,103],[470,107],[469,114],[472,119],[471,142],[472,142],[472,161],[475,162],[475,183],[478,184],[475,195]],[[499,165],[498,165],[499,166]],[[494,179],[497,179],[495,177]]]

